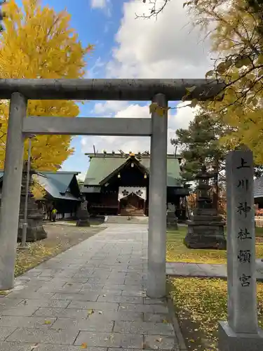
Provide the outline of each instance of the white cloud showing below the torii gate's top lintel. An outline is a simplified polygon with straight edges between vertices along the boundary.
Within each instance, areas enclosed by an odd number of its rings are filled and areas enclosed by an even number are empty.
[[[115,102],[116,110],[114,117],[137,117],[137,118],[149,118],[149,105],[140,106],[137,104],[126,105],[122,110],[118,107],[118,102]],[[113,110],[113,106],[109,102],[105,102],[104,110],[102,109],[102,104],[100,105],[100,112],[107,114],[108,111]],[[178,128],[187,128],[189,121],[194,117],[194,113],[197,108],[192,109],[186,106],[186,102],[181,102],[177,105],[176,112],[172,112],[168,115],[168,153],[173,153],[175,151],[173,145],[170,144],[170,139],[175,137],[175,131]],[[100,118],[100,117],[97,117]],[[110,123],[110,120],[109,120]],[[148,137],[121,137],[121,136],[88,136],[83,137],[81,140],[82,152],[93,152],[93,145],[95,145],[95,150],[102,152],[102,150],[107,150],[107,152],[112,152],[114,150],[123,150],[124,152],[144,152],[145,150],[150,150],[150,138]]]

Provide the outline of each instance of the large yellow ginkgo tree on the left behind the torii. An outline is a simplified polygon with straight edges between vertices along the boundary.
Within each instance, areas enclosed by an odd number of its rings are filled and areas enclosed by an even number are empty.
[[[81,78],[85,58],[93,46],[83,47],[69,25],[66,11],[41,7],[38,0],[14,0],[3,6],[6,13],[0,37],[0,77],[8,78]],[[9,101],[0,101],[0,168],[4,168]],[[79,107],[69,100],[29,100],[31,116],[73,118]],[[32,138],[32,166],[36,170],[56,171],[74,152],[69,135],[37,135]],[[25,141],[27,159],[28,140]]]

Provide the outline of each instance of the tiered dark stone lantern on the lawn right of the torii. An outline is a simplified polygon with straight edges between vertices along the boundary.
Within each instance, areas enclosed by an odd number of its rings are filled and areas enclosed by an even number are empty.
[[[227,249],[224,237],[224,222],[218,216],[217,209],[213,208],[212,199],[208,191],[211,189],[209,179],[213,174],[206,171],[205,166],[196,176],[198,180],[196,208],[193,215],[186,221],[188,225],[184,244],[190,249]]]

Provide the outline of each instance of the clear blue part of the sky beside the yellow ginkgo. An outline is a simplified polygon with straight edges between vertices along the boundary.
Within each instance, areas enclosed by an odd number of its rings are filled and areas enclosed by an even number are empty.
[[[114,1],[117,5],[119,1]],[[114,33],[119,27],[121,19],[121,6],[114,6],[109,16],[107,9],[91,8],[90,0],[42,0],[42,4],[53,7],[55,11],[62,11],[65,8],[72,16],[71,25],[79,34],[79,40],[83,46],[95,45],[93,55],[88,56],[87,74],[88,78],[103,78],[103,63],[111,57],[111,49],[114,44]],[[112,6],[111,6],[112,8]],[[113,11],[114,10],[114,11]],[[80,116],[91,117],[95,102],[79,104]],[[80,171],[85,173],[88,168],[88,157],[81,150],[81,137],[72,139],[72,146],[75,149],[74,155],[69,157],[62,165],[64,171]]]

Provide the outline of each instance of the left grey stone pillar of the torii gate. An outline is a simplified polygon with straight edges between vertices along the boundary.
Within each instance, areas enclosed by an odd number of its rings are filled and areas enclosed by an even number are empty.
[[[20,93],[13,93],[8,119],[0,211],[0,290],[12,289],[14,284],[24,152],[22,119],[26,114],[27,99]]]

